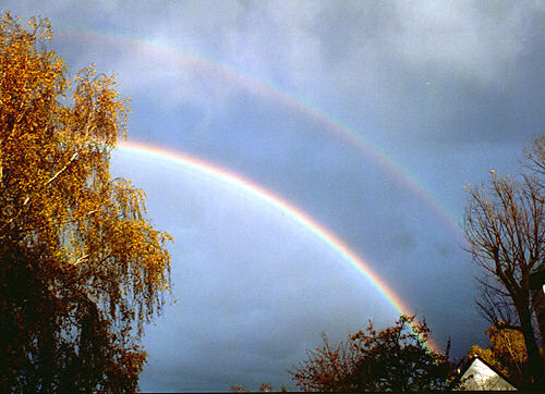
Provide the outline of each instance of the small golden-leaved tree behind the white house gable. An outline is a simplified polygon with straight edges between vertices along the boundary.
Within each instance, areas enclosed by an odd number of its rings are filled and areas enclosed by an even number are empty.
[[[486,330],[486,336],[491,345],[486,348],[473,345],[468,356],[470,358],[479,356],[509,378],[518,387],[530,386],[532,374],[522,333],[511,329],[498,330],[493,324]]]

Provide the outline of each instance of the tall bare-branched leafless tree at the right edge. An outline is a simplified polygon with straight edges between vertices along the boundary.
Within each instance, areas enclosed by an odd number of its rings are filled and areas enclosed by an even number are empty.
[[[530,274],[545,258],[545,196],[531,174],[521,181],[491,171],[488,189],[468,187],[464,232],[473,261],[483,269],[477,306],[497,329],[524,337],[534,384],[544,386]]]

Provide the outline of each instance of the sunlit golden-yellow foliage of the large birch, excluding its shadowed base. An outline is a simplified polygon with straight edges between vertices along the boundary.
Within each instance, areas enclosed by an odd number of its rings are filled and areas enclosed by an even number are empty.
[[[28,26],[9,13],[0,24],[1,270],[24,266],[7,259],[7,250],[38,256],[63,322],[80,321],[78,305],[93,303],[110,334],[131,343],[128,335],[138,336],[164,305],[172,239],[145,218],[144,192],[110,176],[128,100],[114,77],[94,65],[72,87],[62,59],[41,45],[52,36],[49,21],[32,19]]]

